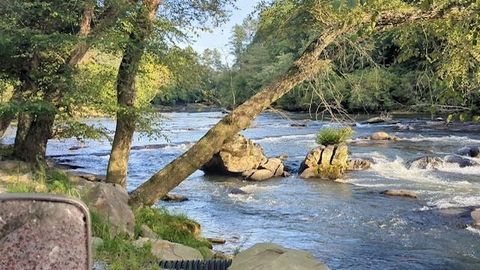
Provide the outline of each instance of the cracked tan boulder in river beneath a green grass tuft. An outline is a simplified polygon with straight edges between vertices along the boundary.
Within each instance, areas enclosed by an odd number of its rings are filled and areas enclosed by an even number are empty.
[[[301,178],[337,179],[348,169],[346,144],[320,146],[310,151],[300,165]]]

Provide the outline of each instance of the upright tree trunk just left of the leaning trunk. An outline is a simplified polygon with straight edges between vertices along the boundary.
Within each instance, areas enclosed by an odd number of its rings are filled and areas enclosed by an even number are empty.
[[[137,117],[135,115],[135,78],[146,42],[151,35],[153,22],[161,0],[143,1],[136,27],[130,33],[117,76],[117,125],[108,161],[108,183],[127,184],[128,158]]]

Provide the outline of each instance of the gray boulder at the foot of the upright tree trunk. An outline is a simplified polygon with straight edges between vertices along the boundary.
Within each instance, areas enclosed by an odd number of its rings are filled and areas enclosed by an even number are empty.
[[[128,193],[120,185],[95,183],[84,197],[84,201],[93,212],[109,222],[113,234],[133,235],[135,217],[128,205]]]

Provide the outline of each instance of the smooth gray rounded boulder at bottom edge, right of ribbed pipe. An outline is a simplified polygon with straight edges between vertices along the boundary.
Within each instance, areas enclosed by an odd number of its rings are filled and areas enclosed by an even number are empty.
[[[275,244],[256,244],[240,252],[229,270],[326,270],[310,253]]]

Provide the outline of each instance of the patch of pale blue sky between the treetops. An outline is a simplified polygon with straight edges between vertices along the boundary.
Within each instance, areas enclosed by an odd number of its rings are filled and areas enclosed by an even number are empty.
[[[200,32],[199,37],[193,42],[192,47],[195,51],[202,53],[205,49],[218,49],[224,59],[228,62],[231,62],[232,56],[229,55],[229,45],[228,42],[232,35],[233,26],[236,24],[241,24],[243,20],[254,11],[255,6],[259,3],[260,0],[238,0],[237,9],[232,12],[230,20],[219,26],[218,28],[213,29],[211,33],[209,32]]]

